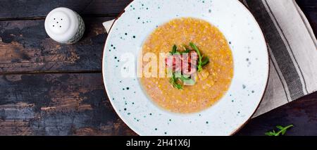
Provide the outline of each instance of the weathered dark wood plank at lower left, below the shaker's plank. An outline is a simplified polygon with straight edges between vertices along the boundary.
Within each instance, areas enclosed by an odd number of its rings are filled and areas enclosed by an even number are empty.
[[[135,135],[101,73],[0,75],[0,135]]]

